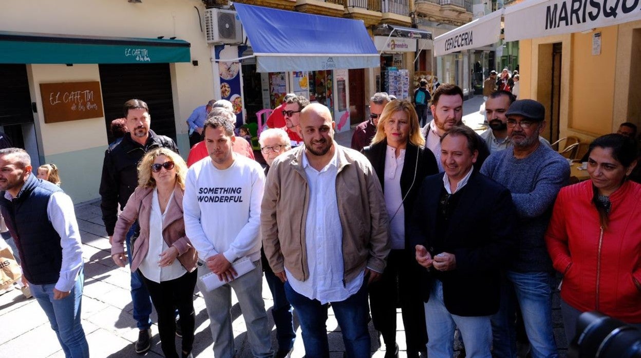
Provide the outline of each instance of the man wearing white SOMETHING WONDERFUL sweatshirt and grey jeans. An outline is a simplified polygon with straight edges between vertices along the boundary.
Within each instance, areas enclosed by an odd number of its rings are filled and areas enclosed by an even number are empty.
[[[224,117],[204,122],[204,142],[209,156],[197,161],[187,172],[183,211],[185,231],[198,251],[199,277],[213,272],[219,288],[207,291],[201,280],[215,357],[233,357],[231,330],[231,288],[247,325],[254,357],[271,357],[270,330],[262,299],[260,262],[260,203],[265,175],[256,161],[232,151],[234,127]],[[232,263],[249,257],[256,266],[238,275]]]

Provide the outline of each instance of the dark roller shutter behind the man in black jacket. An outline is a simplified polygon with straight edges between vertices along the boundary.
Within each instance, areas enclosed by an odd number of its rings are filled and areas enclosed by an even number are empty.
[[[109,133],[112,120],[123,117],[122,105],[134,98],[147,102],[151,115],[151,129],[156,134],[163,134],[176,140],[176,119],[169,63],[99,65],[98,67],[109,143],[113,141]]]

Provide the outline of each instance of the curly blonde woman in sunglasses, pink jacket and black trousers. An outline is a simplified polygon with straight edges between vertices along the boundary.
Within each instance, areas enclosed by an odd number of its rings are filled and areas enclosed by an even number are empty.
[[[148,152],[138,164],[138,188],[131,194],[113,232],[112,258],[127,263],[124,241],[138,220],[140,233],[131,238],[131,271],[138,270],[158,313],[158,331],[165,357],[178,357],[174,307],[183,335],[182,357],[191,357],[194,344],[196,249],[185,236],[183,192],[185,161],[169,149]]]

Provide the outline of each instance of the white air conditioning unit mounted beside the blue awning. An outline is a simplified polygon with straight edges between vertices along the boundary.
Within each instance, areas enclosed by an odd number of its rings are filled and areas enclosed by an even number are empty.
[[[233,10],[204,10],[204,26],[208,44],[242,44],[242,25]]]

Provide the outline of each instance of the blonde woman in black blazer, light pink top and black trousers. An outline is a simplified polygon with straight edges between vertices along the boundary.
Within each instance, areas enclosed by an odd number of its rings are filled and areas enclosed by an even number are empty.
[[[378,282],[372,282],[369,299],[374,328],[381,332],[385,357],[397,357],[396,302],[401,302],[407,356],[419,357],[426,350],[424,305],[415,281],[418,270],[414,248],[405,239],[414,200],[424,177],[438,174],[437,161],[424,147],[419,118],[410,101],[389,102],[378,120],[372,145],[363,154],[372,163],[385,195],[390,220],[387,267]]]

